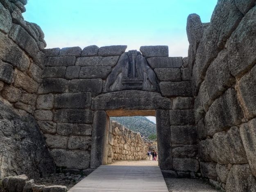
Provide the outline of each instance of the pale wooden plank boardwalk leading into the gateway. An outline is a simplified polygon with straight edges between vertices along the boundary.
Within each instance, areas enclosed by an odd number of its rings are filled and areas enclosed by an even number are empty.
[[[168,192],[158,166],[101,165],[69,192]]]

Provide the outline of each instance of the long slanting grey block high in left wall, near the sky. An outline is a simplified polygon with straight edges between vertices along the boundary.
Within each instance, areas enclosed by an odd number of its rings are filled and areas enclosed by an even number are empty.
[[[36,41],[20,25],[13,24],[9,37],[23,48],[30,56],[36,57],[39,48]]]

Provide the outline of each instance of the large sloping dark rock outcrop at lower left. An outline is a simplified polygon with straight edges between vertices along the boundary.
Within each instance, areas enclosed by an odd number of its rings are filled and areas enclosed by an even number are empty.
[[[32,115],[20,116],[0,102],[0,116],[0,178],[17,174],[39,178],[53,173],[54,162]]]

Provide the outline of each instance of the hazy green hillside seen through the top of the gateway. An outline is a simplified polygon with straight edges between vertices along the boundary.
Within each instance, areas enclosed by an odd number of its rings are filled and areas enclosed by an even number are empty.
[[[110,117],[134,132],[140,132],[141,136],[146,138],[152,134],[156,135],[156,124],[143,116],[133,117]]]

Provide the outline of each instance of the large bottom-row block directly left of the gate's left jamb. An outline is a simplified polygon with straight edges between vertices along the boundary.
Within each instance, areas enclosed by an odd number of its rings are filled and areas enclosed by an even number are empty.
[[[51,154],[58,167],[87,169],[90,164],[90,153],[88,151],[52,149]]]

